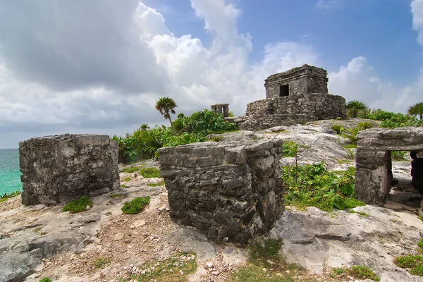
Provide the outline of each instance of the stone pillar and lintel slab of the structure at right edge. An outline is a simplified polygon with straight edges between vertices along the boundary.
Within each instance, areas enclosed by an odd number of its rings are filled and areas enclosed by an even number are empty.
[[[361,131],[355,155],[355,196],[382,205],[391,191],[391,151],[423,151],[423,128],[372,128]]]

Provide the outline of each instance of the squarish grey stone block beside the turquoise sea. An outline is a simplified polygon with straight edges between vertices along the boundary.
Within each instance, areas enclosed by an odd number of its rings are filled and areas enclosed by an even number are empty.
[[[22,203],[60,204],[120,188],[118,143],[108,135],[56,135],[19,143]]]

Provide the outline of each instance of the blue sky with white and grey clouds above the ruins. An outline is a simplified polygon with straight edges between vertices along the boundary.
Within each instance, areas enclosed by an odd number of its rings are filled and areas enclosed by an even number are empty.
[[[325,68],[329,92],[405,113],[423,100],[423,0],[0,0],[0,149],[125,135],[264,99],[264,79]]]

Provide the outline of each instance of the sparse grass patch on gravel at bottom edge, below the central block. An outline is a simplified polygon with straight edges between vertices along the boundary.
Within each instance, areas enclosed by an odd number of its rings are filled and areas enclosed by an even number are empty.
[[[181,259],[183,257],[185,259]],[[195,254],[193,252],[178,252],[164,261],[155,264],[151,262],[139,267],[146,270],[145,274],[139,276],[130,275],[130,278],[138,282],[185,282],[188,281],[188,276],[197,270],[197,262],[195,262]]]

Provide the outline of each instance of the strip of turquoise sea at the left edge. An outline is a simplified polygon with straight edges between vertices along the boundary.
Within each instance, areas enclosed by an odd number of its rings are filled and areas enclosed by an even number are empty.
[[[19,150],[0,149],[0,195],[22,191],[19,170]]]

